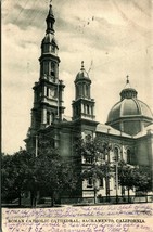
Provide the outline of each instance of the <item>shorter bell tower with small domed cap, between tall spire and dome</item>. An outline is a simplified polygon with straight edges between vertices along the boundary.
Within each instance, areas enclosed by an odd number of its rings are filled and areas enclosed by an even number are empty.
[[[94,100],[91,99],[91,80],[85,70],[84,61],[75,79],[75,101],[73,101],[73,120],[94,120]]]

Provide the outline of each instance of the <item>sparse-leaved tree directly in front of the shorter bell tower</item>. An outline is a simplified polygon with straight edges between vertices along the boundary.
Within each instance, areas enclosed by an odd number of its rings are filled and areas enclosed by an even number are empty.
[[[112,177],[112,169],[109,162],[109,152],[111,145],[107,141],[92,139],[90,136],[85,140],[79,139],[75,143],[76,154],[86,158],[88,166],[82,170],[81,178],[92,179],[94,191],[94,203],[97,202],[97,192],[99,190],[98,180],[105,178],[106,196],[110,198],[110,184],[109,180]],[[106,160],[107,159],[107,160]]]

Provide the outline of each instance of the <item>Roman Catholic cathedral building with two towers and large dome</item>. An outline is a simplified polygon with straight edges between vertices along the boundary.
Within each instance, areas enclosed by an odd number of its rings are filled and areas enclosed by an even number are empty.
[[[34,86],[34,106],[31,108],[31,125],[25,140],[28,151],[36,146],[40,134],[53,138],[54,147],[58,147],[63,158],[75,156],[73,144],[78,136],[99,137],[106,139],[112,149],[109,160],[113,163],[117,155],[129,165],[145,165],[151,167],[153,158],[153,114],[149,106],[138,99],[138,92],[129,82],[120,91],[120,100],[111,108],[106,123],[95,120],[95,101],[92,99],[91,79],[86,72],[84,62],[74,81],[75,99],[72,102],[73,115],[64,117],[63,80],[60,79],[58,43],[54,36],[55,18],[50,5],[47,16],[46,36],[41,42],[39,57],[39,79]],[[84,169],[90,160],[79,157],[79,165]],[[100,180],[98,195],[106,196],[105,180]],[[110,195],[115,196],[115,178],[110,180]],[[118,195],[122,189],[118,186]],[[91,180],[80,183],[77,199],[92,202],[94,197]]]

